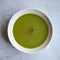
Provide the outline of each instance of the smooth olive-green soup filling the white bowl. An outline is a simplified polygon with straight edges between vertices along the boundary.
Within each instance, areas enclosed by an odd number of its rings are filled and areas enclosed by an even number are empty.
[[[22,15],[13,26],[13,36],[16,42],[25,48],[35,48],[42,45],[47,35],[46,22],[35,14]]]

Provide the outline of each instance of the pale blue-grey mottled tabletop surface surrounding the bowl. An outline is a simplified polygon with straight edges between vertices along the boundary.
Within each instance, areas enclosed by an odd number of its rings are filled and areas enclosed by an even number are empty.
[[[23,8],[41,10],[53,25],[51,42],[35,54],[17,51],[7,38],[6,28],[11,16]],[[0,0],[0,60],[60,60],[60,0]]]

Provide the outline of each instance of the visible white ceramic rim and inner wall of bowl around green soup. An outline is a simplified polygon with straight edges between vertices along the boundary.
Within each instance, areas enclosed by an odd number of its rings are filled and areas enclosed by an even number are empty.
[[[18,17],[20,17],[21,15],[24,15],[24,14],[27,14],[27,13],[33,13],[33,14],[36,14],[36,15],[39,15],[41,16],[45,22],[47,23],[48,25],[48,36],[46,38],[46,41],[40,45],[39,47],[36,47],[36,48],[24,48],[22,46],[20,46],[14,39],[14,36],[13,36],[13,25],[15,23],[15,21],[18,19]],[[37,52],[37,51],[40,51],[42,50],[43,48],[45,48],[48,43],[50,42],[51,40],[51,37],[52,37],[52,24],[49,20],[49,18],[44,14],[42,13],[41,11],[39,10],[36,10],[36,9],[23,9],[19,12],[17,12],[16,14],[14,14],[8,24],[8,38],[9,38],[9,41],[11,42],[11,44],[19,51],[22,51],[22,52],[25,52],[25,53],[34,53],[34,52]]]

